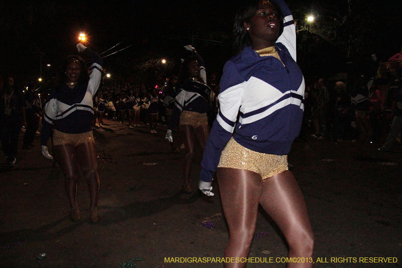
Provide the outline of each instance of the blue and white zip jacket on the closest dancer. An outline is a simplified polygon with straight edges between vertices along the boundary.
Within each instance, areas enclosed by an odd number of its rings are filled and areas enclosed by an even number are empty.
[[[284,15],[283,33],[275,44],[283,64],[275,57],[259,56],[251,47],[226,63],[219,113],[201,163],[201,181],[212,181],[232,136],[253,151],[285,155],[300,131],[305,81],[296,63],[295,25],[287,5],[282,0],[276,3]]]

